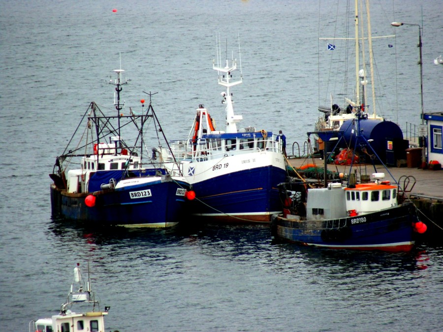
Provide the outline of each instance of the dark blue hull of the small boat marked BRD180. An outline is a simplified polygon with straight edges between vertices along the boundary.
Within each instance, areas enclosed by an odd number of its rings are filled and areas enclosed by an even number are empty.
[[[331,249],[409,251],[415,242],[412,204],[334,220],[295,221],[276,217],[276,238]]]

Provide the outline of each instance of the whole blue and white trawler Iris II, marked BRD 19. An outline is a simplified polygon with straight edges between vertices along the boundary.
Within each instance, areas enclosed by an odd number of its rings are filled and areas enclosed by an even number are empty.
[[[243,118],[234,114],[231,88],[243,78],[232,80],[236,59],[226,59],[225,66],[221,63],[221,59],[217,65],[213,61],[213,69],[226,89],[221,93],[225,130],[216,129],[209,111],[200,104],[188,138],[175,141],[171,151],[181,161],[184,179],[195,192],[193,216],[222,222],[270,222],[272,214],[282,211],[277,188],[287,176],[282,143],[271,131],[237,130]],[[169,171],[178,175],[172,167]]]

